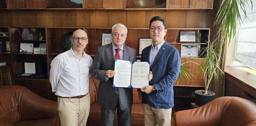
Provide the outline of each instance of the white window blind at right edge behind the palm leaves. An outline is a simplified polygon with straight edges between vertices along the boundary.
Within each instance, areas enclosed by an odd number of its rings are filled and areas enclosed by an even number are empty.
[[[252,2],[256,5],[256,0]],[[239,26],[235,60],[256,70],[256,8],[252,9],[250,2],[247,5],[246,15],[247,18],[241,11],[241,18],[244,20]]]

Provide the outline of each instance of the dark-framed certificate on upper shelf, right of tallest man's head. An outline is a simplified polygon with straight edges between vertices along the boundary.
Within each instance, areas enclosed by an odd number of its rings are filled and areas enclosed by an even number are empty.
[[[195,31],[180,31],[180,43],[195,43]]]

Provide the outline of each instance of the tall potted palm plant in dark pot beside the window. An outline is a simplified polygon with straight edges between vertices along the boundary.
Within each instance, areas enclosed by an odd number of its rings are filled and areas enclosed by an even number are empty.
[[[216,14],[214,22],[214,26],[218,31],[216,32],[213,41],[207,42],[208,46],[201,50],[201,57],[203,57],[204,60],[202,60],[200,68],[204,69],[202,76],[204,77],[205,89],[195,91],[195,104],[197,106],[203,106],[214,99],[214,93],[208,91],[209,84],[213,79],[218,79],[216,70],[219,70],[221,74],[224,74],[219,66],[221,53],[223,48],[225,48],[224,44],[228,45],[231,38],[236,34],[237,21],[239,20],[240,23],[242,23],[239,6],[246,17],[245,9],[247,2],[252,3],[251,0],[222,0],[221,2],[220,9]],[[204,98],[204,96],[206,98]]]

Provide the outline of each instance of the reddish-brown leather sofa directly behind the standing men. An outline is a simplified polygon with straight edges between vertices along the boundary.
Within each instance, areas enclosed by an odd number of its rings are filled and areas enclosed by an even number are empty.
[[[87,120],[87,126],[101,126],[100,106],[97,103],[98,88],[99,80],[90,77],[90,114]],[[144,126],[143,106],[140,104],[137,89],[133,89],[133,105],[131,109],[131,126]],[[117,115],[115,116],[115,125],[118,125]]]

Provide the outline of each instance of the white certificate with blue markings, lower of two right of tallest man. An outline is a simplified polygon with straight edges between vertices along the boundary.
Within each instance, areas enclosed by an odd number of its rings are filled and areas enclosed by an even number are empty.
[[[181,44],[180,57],[197,58],[200,51],[200,44]]]

